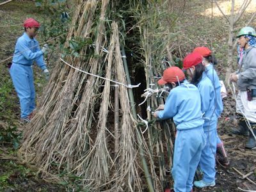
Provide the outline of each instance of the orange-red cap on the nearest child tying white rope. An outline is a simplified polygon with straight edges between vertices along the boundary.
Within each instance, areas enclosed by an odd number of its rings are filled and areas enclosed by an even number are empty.
[[[164,85],[166,83],[176,83],[177,81],[185,79],[185,74],[179,67],[169,67],[163,72],[163,77],[159,79],[158,84]]]

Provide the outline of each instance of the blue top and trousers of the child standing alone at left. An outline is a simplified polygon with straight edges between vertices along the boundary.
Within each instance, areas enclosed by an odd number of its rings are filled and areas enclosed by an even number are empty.
[[[10,74],[20,100],[21,118],[28,118],[35,109],[35,87],[33,82],[33,62],[45,70],[43,52],[35,38],[24,33],[18,38],[12,60]]]

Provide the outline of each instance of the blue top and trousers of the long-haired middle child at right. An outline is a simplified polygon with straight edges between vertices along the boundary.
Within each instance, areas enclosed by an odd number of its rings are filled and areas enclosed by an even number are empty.
[[[202,151],[200,159],[200,168],[204,172],[204,182],[211,183],[215,181],[215,154],[217,147],[217,121],[218,116],[215,113],[215,92],[211,80],[205,72],[202,79],[197,84],[201,95],[201,108],[204,114],[204,132],[207,137],[205,148]]]

